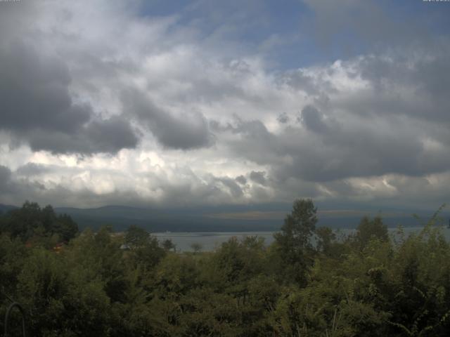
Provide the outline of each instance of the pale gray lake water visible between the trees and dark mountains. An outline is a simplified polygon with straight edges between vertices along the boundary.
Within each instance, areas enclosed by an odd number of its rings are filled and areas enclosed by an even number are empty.
[[[423,227],[404,227],[404,232],[409,235],[413,232],[418,232]],[[388,228],[392,236],[396,236],[397,228]],[[450,241],[450,228],[442,227],[442,231],[447,241]],[[340,229],[335,230],[338,237],[348,235],[354,230]],[[257,236],[264,238],[265,244],[269,245],[274,242],[275,232],[159,232],[152,233],[158,240],[171,239],[176,246],[177,251],[193,251],[192,244],[200,244],[202,251],[214,251],[220,247],[224,242],[227,242],[231,237],[243,239],[244,237]]]

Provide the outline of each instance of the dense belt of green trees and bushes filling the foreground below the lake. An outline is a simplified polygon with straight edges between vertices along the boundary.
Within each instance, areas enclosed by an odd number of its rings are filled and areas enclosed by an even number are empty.
[[[12,298],[28,336],[449,336],[450,246],[437,222],[392,240],[365,217],[338,240],[299,199],[270,246],[246,237],[176,253],[140,227],[78,232],[26,202],[0,216],[0,331]]]

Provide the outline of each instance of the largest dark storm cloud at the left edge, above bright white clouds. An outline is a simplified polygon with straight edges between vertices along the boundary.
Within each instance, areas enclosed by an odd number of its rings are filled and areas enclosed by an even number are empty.
[[[94,118],[90,105],[76,104],[68,68],[23,44],[0,49],[0,130],[53,153],[114,153],[136,147],[129,121]]]

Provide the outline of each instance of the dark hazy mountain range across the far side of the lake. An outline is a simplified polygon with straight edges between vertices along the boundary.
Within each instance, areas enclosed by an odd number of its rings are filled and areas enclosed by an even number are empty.
[[[289,213],[290,205],[278,205],[272,209],[264,206],[210,207],[207,209],[144,209],[130,206],[103,206],[94,209],[56,207],[56,213],[70,215],[80,229],[97,229],[102,225],[111,225],[116,231],[126,230],[129,225],[138,225],[150,232],[261,232],[279,230],[283,218]],[[17,206],[0,204],[0,213],[6,213]],[[269,208],[269,207],[268,207]],[[375,211],[329,210],[318,212],[318,225],[332,228],[354,228],[364,215],[376,216]],[[426,221],[432,213],[421,212]],[[420,225],[412,213],[381,213],[388,227],[401,224],[404,227]],[[443,212],[445,225],[450,213]],[[446,220],[445,220],[446,219]]]

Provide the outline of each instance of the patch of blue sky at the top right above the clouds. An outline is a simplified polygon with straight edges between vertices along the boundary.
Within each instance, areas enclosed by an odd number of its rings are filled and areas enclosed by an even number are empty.
[[[335,22],[323,22],[321,13],[297,0],[153,0],[143,2],[141,14],[176,15],[175,29],[195,30],[200,44],[224,44],[236,48],[236,53],[261,55],[274,71],[345,60],[386,46],[448,35],[450,2],[371,4],[379,21],[371,20],[371,10],[364,11],[361,4],[352,8],[344,3],[348,8],[339,11]],[[328,24],[323,33],[320,26]]]

